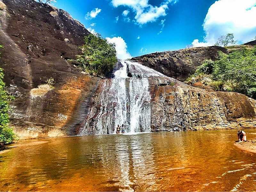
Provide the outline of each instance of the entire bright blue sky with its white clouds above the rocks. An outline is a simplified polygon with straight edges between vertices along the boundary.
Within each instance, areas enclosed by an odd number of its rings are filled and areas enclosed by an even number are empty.
[[[256,0],[57,0],[54,5],[116,43],[122,59],[212,45],[229,32],[239,43],[256,36]]]

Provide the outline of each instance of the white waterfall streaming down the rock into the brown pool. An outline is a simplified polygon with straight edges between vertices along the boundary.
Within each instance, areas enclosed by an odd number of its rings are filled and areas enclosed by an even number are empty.
[[[104,80],[94,99],[80,135],[116,133],[124,124],[125,133],[150,132],[150,76],[164,76],[139,63],[120,60],[114,78]]]

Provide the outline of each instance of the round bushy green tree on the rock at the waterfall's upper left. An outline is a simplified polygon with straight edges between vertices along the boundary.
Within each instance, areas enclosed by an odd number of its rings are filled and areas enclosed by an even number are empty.
[[[106,74],[117,62],[115,44],[108,43],[100,34],[85,36],[80,49],[82,55],[77,55],[76,62],[91,75]]]

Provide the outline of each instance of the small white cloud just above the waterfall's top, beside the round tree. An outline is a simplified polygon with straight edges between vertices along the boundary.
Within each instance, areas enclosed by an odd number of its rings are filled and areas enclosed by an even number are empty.
[[[131,54],[127,51],[127,44],[122,37],[107,37],[106,39],[109,43],[116,44],[117,58],[123,60],[132,58]]]

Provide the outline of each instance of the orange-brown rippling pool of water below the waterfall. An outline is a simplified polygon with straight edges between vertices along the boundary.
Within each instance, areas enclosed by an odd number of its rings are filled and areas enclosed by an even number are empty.
[[[0,191],[256,191],[256,154],[236,132],[44,139],[0,155]]]

